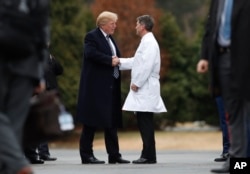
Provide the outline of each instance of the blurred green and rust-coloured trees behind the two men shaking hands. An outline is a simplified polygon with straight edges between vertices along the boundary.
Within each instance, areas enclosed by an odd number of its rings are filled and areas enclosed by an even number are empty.
[[[122,56],[132,57],[140,42],[135,34],[136,17],[150,14],[155,18],[153,32],[161,48],[161,94],[168,109],[155,117],[156,128],[197,120],[217,125],[208,77],[196,73],[208,5],[209,0],[52,0],[50,51],[64,67],[58,80],[66,108],[75,115],[83,39],[96,27],[97,15],[104,10],[118,14],[114,38]],[[122,72],[123,101],[129,82],[130,72]],[[125,129],[135,126],[133,113],[124,112]]]

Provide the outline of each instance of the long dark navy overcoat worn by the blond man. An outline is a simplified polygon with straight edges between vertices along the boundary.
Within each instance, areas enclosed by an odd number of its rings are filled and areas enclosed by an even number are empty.
[[[112,37],[111,40],[116,47],[117,56],[120,57],[120,51]],[[108,128],[114,126],[112,125],[112,114],[114,114],[117,119],[116,126],[119,127],[122,117],[121,80],[120,76],[118,80],[113,77],[111,49],[99,28],[86,34],[84,44],[77,118],[88,126]],[[115,81],[117,83],[115,103],[118,107],[112,106]]]

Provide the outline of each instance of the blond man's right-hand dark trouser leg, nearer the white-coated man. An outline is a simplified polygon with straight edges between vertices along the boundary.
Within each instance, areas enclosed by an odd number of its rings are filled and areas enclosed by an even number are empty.
[[[119,153],[119,143],[117,136],[117,128],[106,128],[104,130],[105,145],[109,158],[121,157]]]

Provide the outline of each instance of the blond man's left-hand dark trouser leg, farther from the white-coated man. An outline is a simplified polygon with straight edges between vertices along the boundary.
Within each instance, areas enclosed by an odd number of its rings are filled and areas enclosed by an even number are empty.
[[[96,128],[84,125],[80,138],[80,156],[81,158],[89,158],[93,154],[93,141]]]

